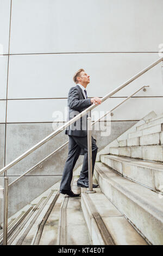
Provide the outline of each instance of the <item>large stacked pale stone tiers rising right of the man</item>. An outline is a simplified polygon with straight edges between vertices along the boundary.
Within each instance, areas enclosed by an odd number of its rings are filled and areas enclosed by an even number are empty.
[[[152,245],[163,245],[162,119],[149,118],[117,138],[95,166],[101,191]]]

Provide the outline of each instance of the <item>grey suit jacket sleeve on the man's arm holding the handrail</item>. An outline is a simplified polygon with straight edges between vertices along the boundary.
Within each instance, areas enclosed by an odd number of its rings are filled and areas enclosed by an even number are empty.
[[[91,99],[79,100],[78,90],[72,87],[68,93],[68,107],[74,110],[80,110],[92,105]]]

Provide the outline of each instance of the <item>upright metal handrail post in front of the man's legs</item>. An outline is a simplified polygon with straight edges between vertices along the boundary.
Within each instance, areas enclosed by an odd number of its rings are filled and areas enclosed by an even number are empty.
[[[89,112],[89,117],[87,118],[87,160],[88,160],[88,171],[89,171],[89,190],[85,193],[96,193],[93,191],[92,184],[92,135],[91,135],[91,113]]]

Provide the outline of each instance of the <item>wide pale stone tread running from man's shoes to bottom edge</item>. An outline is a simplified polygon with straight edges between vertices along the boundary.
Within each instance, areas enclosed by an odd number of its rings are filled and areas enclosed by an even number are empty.
[[[78,178],[74,179],[72,191],[80,193],[77,186]],[[60,208],[57,245],[91,245],[91,238],[87,229],[81,206],[81,197],[64,197]]]

